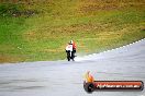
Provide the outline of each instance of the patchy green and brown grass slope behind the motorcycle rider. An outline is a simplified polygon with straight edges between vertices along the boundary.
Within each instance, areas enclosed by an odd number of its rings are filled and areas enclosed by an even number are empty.
[[[121,47],[145,38],[144,20],[145,4],[138,0],[2,3],[0,62],[65,59],[70,39],[78,55]]]

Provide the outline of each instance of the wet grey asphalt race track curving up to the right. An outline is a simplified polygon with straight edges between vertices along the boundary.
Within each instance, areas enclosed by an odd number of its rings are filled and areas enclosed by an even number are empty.
[[[145,83],[145,39],[98,55],[77,57],[75,62],[0,64],[0,96],[145,96],[145,89],[88,94],[82,85],[87,71],[96,80]]]

